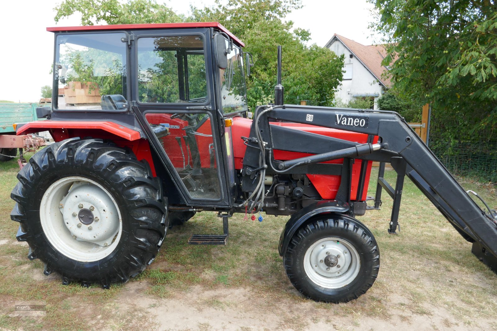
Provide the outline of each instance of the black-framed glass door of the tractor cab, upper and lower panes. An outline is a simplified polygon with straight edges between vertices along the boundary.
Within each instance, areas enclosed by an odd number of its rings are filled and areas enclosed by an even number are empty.
[[[188,205],[229,206],[209,30],[134,33],[132,104],[169,173],[160,175]]]

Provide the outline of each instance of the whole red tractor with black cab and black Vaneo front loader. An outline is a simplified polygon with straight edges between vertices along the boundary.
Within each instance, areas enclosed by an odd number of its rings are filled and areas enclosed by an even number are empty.
[[[365,293],[378,245],[354,218],[367,209],[372,161],[398,173],[389,232],[407,175],[473,253],[497,267],[495,211],[484,212],[394,112],[261,105],[248,119],[249,54],[219,23],[48,28],[55,33],[53,109],[17,134],[56,141],[18,174],[11,218],[30,260],[64,284],[125,282],[150,265],[167,229],[217,211],[226,244],[235,212],[288,215],[279,253],[306,297],[346,302]],[[279,57],[279,68],[280,57]],[[58,98],[59,88],[66,90]],[[83,90],[83,92],[81,92]],[[490,209],[490,208],[489,208]]]

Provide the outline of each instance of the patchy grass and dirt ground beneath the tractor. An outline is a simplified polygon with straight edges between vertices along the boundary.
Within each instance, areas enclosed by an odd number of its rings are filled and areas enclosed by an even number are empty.
[[[43,274],[42,262],[26,259],[27,244],[15,240],[8,195],[15,177],[2,176],[2,331],[497,330],[497,275],[411,183],[401,234],[387,234],[388,200],[361,218],[381,253],[373,286],[357,300],[326,304],[303,298],[286,277],[277,253],[286,219],[273,216],[252,223],[237,214],[228,245],[205,247],[187,245],[187,238],[217,233],[222,224],[215,214],[197,214],[170,230],[156,260],[126,284],[64,286],[60,275]],[[467,185],[497,205],[495,186]]]

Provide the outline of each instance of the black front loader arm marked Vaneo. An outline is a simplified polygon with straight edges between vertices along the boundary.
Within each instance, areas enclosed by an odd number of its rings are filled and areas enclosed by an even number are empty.
[[[352,146],[357,149],[364,149],[364,146],[361,147],[357,143],[351,145],[350,141],[332,141],[327,144],[320,140],[323,136],[319,134],[299,133],[296,130],[293,130],[294,138],[284,142],[275,135],[276,132],[281,133],[280,127],[272,125],[268,119],[377,135],[379,143],[376,146],[369,144],[371,150],[363,153],[364,155],[342,155],[346,150],[350,151]],[[248,170],[248,173],[259,165],[258,138],[263,140],[265,160],[268,160],[266,162],[271,162],[270,166],[274,166],[273,169],[277,168],[278,171],[285,171],[292,165],[304,167],[310,163],[343,156],[381,162],[391,162],[392,157],[402,157],[407,163],[406,175],[463,237],[472,238],[497,257],[497,227],[495,221],[490,218],[492,216],[486,215],[469,197],[408,123],[395,112],[296,105],[260,106],[254,114],[250,137],[255,139],[248,142],[248,145],[254,148],[247,148],[244,158],[244,171]],[[304,138],[307,150],[299,143]],[[272,158],[272,148],[316,155],[278,163]],[[271,173],[270,169],[271,167],[268,167],[268,173]]]

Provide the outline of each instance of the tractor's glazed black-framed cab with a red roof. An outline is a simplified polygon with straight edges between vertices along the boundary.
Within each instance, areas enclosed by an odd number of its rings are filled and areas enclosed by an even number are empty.
[[[112,118],[137,128],[159,156],[155,171],[177,188],[170,202],[230,204],[234,168],[226,165],[234,160],[224,118],[248,111],[240,40],[219,23],[48,30],[54,91],[64,95],[54,97],[52,120]]]

